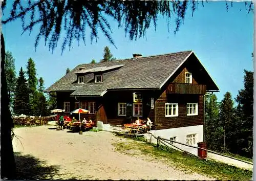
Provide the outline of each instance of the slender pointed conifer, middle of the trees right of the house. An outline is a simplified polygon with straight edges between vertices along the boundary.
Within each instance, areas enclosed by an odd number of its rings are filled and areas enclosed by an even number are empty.
[[[232,134],[234,131],[235,124],[235,116],[234,116],[234,107],[233,100],[231,98],[231,94],[227,92],[224,95],[224,99],[220,104],[220,123],[224,130],[224,138],[223,138],[223,149],[224,152],[227,151],[227,148],[231,147],[232,142]]]

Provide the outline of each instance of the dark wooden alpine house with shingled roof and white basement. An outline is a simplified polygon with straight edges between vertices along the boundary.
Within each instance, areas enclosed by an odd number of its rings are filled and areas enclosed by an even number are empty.
[[[219,92],[193,51],[80,64],[45,92],[57,108],[90,110],[81,119],[123,125],[137,117],[156,124],[164,138],[196,145],[203,141],[204,95]]]

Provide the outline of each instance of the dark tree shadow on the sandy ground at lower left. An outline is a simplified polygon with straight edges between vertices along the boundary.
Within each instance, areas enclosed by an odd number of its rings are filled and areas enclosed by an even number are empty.
[[[59,166],[48,166],[45,161],[40,161],[30,154],[14,152],[14,157],[17,180],[51,179],[58,172]]]

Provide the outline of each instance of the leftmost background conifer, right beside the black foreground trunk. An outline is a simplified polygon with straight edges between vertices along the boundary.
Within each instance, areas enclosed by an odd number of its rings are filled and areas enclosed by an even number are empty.
[[[5,72],[6,72],[6,81],[7,81],[7,91],[10,99],[9,107],[12,107],[13,104],[13,96],[16,84],[16,72],[15,72],[15,64],[12,53],[6,52],[6,62],[5,62]]]

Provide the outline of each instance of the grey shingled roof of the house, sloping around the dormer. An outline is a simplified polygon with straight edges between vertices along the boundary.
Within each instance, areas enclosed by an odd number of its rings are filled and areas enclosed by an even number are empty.
[[[176,69],[185,61],[192,51],[140,57],[137,60],[123,59],[111,62],[80,64],[69,74],[65,75],[49,88],[46,92],[74,90],[71,96],[98,96],[107,89],[126,88],[160,88],[161,85],[172,75]],[[121,65],[118,70],[103,73],[101,83],[74,83],[77,78],[75,72],[79,68],[93,69],[102,66]],[[84,80],[90,81],[93,74],[86,75]]]

